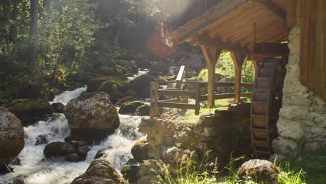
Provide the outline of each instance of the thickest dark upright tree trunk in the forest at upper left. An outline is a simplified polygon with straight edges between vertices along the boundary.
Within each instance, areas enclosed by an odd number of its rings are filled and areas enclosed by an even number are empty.
[[[38,38],[38,0],[31,0],[31,24],[29,27],[29,38],[31,44],[29,45],[29,72],[33,72],[34,63],[36,61],[36,43]]]

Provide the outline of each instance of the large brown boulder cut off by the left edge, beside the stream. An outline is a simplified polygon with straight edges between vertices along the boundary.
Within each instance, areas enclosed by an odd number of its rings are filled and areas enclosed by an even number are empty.
[[[0,167],[17,158],[24,148],[24,128],[14,114],[0,108]]]

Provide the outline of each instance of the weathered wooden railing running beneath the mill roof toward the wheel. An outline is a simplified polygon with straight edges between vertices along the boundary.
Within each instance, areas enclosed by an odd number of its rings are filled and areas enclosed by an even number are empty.
[[[160,89],[162,84],[176,84],[176,86],[181,85],[192,85],[190,91],[181,90],[179,88],[171,89]],[[160,114],[160,107],[169,107],[169,108],[178,108],[178,109],[194,109],[195,114],[199,115],[201,109],[200,102],[208,99],[207,94],[201,94],[201,89],[207,89],[207,82],[166,82],[166,81],[156,81],[150,83],[150,114],[153,116],[158,116]],[[215,82],[216,87],[233,87],[235,86],[234,82]],[[241,87],[252,88],[253,83],[242,83]],[[169,96],[168,100],[160,100],[162,95]],[[251,93],[240,93],[242,97],[251,97]],[[194,99],[194,104],[180,102],[180,97],[187,99]],[[234,98],[235,93],[224,93],[217,94],[215,93],[215,100]]]

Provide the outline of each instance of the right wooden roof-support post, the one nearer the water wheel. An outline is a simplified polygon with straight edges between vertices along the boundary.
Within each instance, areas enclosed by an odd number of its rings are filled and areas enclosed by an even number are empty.
[[[231,57],[234,63],[234,68],[235,68],[235,86],[234,86],[234,102],[235,103],[240,103],[240,91],[241,91],[241,69],[242,69],[242,64],[245,59],[244,54],[238,54],[231,52]]]

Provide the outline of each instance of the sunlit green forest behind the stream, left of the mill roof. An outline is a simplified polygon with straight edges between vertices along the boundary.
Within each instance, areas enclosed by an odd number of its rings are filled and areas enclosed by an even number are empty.
[[[157,26],[164,22],[176,28],[214,3],[3,0],[0,102],[50,99],[70,86],[69,79],[81,75],[121,75],[119,61],[162,61],[146,45]],[[192,48],[186,46],[180,52],[183,50]]]

